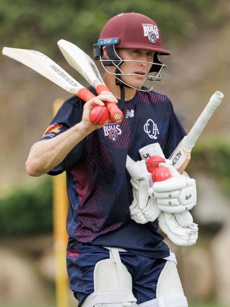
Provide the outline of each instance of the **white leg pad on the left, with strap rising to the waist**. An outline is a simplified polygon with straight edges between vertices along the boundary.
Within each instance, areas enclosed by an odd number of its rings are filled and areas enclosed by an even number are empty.
[[[99,261],[94,268],[94,292],[81,307],[137,307],[132,293],[132,276],[121,263],[117,248],[111,248],[111,259]]]

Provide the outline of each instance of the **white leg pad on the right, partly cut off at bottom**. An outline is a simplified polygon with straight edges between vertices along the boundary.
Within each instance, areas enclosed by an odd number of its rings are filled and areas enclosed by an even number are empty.
[[[139,307],[188,307],[176,264],[167,261],[157,283],[156,298]]]

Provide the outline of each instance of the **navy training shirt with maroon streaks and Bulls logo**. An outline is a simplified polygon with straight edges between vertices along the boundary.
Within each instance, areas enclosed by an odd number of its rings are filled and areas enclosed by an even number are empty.
[[[56,137],[80,122],[83,105],[76,96],[64,102],[42,139]],[[140,160],[139,149],[158,142],[168,158],[186,133],[171,101],[155,91],[136,91],[125,102],[123,115],[120,124],[109,122],[86,136],[49,172],[56,175],[66,171],[70,202],[67,251],[107,246],[150,258],[167,257],[169,248],[158,231],[157,220],[138,224],[130,218],[133,196],[126,157]]]

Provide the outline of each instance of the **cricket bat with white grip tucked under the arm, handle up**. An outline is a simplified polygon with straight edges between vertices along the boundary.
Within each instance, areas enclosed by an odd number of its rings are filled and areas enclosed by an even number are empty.
[[[220,91],[216,91],[210,98],[209,103],[198,117],[190,132],[182,139],[169,159],[173,162],[175,169],[179,173],[183,173],[191,158],[191,150],[195,142],[199,138],[201,132],[205,128],[210,117],[221,103],[224,95]]]

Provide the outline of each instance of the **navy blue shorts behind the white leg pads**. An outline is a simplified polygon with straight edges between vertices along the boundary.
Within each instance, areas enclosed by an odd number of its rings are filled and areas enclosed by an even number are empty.
[[[156,285],[159,275],[166,263],[165,259],[151,259],[148,257],[119,252],[121,262],[132,275],[132,292],[137,304],[156,298]],[[84,252],[77,257],[67,255],[67,272],[70,289],[81,306],[84,299],[94,292],[94,267],[98,261],[108,259],[109,250],[100,248]]]

